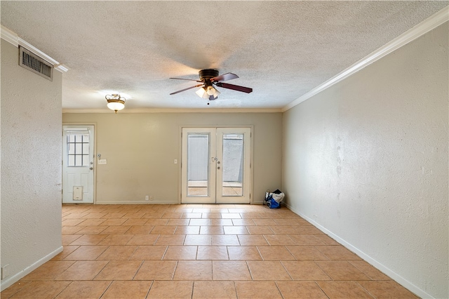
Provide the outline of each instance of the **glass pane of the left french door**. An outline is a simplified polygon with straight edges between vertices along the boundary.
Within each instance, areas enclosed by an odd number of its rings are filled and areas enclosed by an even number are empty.
[[[209,195],[209,134],[187,136],[187,196]]]

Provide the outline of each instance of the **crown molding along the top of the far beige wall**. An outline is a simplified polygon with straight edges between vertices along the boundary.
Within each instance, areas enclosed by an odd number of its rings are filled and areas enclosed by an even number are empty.
[[[111,113],[114,112],[111,109],[72,109],[64,108],[62,113]],[[164,108],[164,109],[123,109],[118,112],[118,114],[123,113],[281,113],[280,108],[276,109],[176,109],[176,108]]]

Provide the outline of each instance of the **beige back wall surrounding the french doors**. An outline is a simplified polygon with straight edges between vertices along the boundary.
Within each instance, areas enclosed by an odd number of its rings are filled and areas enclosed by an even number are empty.
[[[106,103],[105,103],[106,104]],[[95,123],[96,203],[176,204],[180,197],[182,126],[253,126],[253,199],[281,187],[281,113],[126,113],[62,115],[64,123]],[[153,195],[154,201],[145,201]]]

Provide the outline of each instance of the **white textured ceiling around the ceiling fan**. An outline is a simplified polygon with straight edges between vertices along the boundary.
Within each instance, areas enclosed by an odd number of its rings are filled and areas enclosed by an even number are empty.
[[[62,107],[281,108],[448,1],[1,1],[1,25],[58,62]],[[199,69],[233,72],[206,105]]]

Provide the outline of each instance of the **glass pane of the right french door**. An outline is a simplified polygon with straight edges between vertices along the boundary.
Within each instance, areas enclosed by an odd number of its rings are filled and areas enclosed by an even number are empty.
[[[243,134],[223,134],[222,196],[243,196]]]

